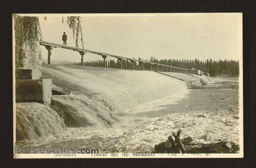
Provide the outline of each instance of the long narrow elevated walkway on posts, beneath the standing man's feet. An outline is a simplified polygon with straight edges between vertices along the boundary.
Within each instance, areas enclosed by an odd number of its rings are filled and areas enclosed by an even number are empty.
[[[93,51],[93,50],[89,50],[89,49],[82,49],[82,48],[78,48],[78,47],[72,47],[72,46],[65,46],[65,45],[61,45],[61,44],[57,44],[57,43],[53,43],[53,42],[46,42],[43,40],[39,41],[39,44],[41,46],[45,46],[45,48],[48,50],[48,64],[51,63],[50,58],[51,58],[51,51],[53,48],[64,48],[64,49],[70,49],[73,51],[78,51],[81,55],[81,65],[83,66],[83,55],[85,55],[85,53],[92,53],[92,54],[97,54],[97,55],[101,55],[102,58],[104,59],[104,64],[105,64],[105,68],[106,68],[106,58],[107,57],[114,57],[117,58],[118,61],[121,62],[121,69],[122,69],[122,60],[130,60],[131,62],[133,62],[133,69],[134,69],[134,62],[142,62],[142,70],[144,69],[144,63],[148,63],[151,65],[157,65],[157,71],[158,71],[158,66],[162,66],[163,67],[167,67],[167,71],[168,68],[173,68],[174,72],[182,72],[182,73],[186,73],[189,71],[189,69],[184,69],[184,68],[178,68],[178,67],[174,67],[174,66],[169,66],[169,65],[165,65],[165,64],[160,64],[160,63],[155,63],[155,62],[149,62],[149,61],[144,61],[144,60],[137,60],[134,58],[127,58],[127,57],[122,57],[119,55],[113,55],[113,54],[108,54],[108,53],[102,53],[102,52],[98,52],[98,51]],[[172,70],[171,70],[172,71]]]

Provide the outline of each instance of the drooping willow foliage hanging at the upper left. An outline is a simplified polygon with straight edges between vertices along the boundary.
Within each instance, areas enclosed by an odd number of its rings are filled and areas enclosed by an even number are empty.
[[[13,15],[14,18],[14,30],[15,30],[15,64],[17,68],[23,67],[23,46],[30,48],[30,64],[29,68],[36,68],[37,62],[35,58],[35,50],[37,42],[41,39],[41,27],[37,16],[19,16]],[[46,16],[44,16],[46,20]],[[62,23],[64,17],[62,18]],[[76,40],[76,47],[78,47],[78,38],[83,46],[83,33],[82,33],[82,21],[80,16],[68,16],[67,24],[72,30],[73,38]]]

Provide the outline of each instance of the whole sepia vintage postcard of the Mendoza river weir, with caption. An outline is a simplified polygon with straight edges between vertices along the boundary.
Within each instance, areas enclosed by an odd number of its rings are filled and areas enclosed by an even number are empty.
[[[243,157],[242,23],[13,14],[13,157]]]

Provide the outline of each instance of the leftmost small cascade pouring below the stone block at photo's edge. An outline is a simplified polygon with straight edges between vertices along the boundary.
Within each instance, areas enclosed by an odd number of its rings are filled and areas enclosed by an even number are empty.
[[[40,103],[16,104],[17,140],[38,139],[63,132],[66,125],[56,111]]]

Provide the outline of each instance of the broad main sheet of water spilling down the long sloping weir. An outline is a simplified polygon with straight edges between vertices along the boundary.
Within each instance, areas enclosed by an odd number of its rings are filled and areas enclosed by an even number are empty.
[[[184,82],[152,71],[111,68],[44,65],[43,77],[56,84],[72,86],[92,95],[113,113],[123,113],[135,106],[166,96],[183,97]]]

